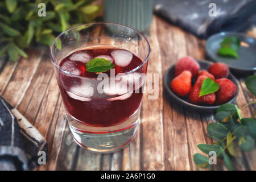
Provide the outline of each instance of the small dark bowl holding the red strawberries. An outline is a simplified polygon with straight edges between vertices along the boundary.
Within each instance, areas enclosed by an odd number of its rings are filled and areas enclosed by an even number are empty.
[[[200,64],[200,70],[205,69],[207,70],[208,67],[210,66],[210,64],[212,64],[209,61],[201,61],[201,60],[197,60],[198,63]],[[196,111],[215,111],[216,109],[218,109],[218,107],[220,105],[196,105],[196,104],[191,104],[189,102],[189,98],[188,96],[186,97],[179,97],[177,96],[174,92],[172,92],[171,90],[171,81],[174,79],[174,72],[175,72],[175,64],[172,65],[170,68],[167,69],[165,75],[164,75],[164,87],[167,91],[167,94],[170,95],[171,99],[176,101],[177,104],[180,104],[182,106],[187,107],[187,109],[195,109]],[[233,81],[234,84],[236,84],[237,86],[237,94],[236,96],[234,96],[231,100],[229,100],[228,102],[233,102],[239,92],[239,86],[238,86],[238,82],[237,79],[232,75],[232,73],[229,73],[228,76],[229,80]],[[192,80],[192,84],[195,83],[195,80]]]

